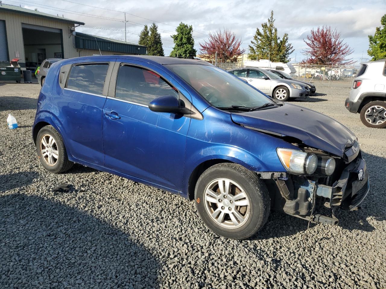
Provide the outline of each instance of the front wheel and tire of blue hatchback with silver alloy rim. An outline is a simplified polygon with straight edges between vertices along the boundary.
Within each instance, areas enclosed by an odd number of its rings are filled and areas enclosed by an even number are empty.
[[[202,173],[196,183],[197,211],[218,235],[246,239],[267,221],[271,200],[256,174],[241,165],[220,163]]]

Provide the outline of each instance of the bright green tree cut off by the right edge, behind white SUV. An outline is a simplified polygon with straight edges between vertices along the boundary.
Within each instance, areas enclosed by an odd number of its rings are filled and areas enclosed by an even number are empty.
[[[386,14],[381,18],[383,27],[376,27],[375,33],[369,35],[369,50],[367,54],[372,56],[371,60],[386,58]]]

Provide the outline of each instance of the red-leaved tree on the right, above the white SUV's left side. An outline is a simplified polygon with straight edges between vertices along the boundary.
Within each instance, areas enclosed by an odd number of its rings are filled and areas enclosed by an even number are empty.
[[[355,62],[352,58],[347,59],[354,50],[350,49],[347,43],[343,43],[344,39],[340,39],[340,33],[336,29],[331,30],[331,27],[327,26],[312,29],[307,40],[304,42],[308,48],[302,51],[307,56],[304,60],[307,64],[342,66]]]

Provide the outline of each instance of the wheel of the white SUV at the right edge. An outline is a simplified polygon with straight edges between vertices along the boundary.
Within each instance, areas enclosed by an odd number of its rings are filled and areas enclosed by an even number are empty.
[[[361,109],[361,121],[369,128],[386,127],[386,102],[371,101]]]

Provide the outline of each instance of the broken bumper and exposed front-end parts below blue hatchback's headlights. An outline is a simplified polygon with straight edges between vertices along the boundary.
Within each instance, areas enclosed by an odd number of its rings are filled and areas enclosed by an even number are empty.
[[[356,158],[343,168],[332,185],[319,184],[315,178],[310,180],[302,176],[289,175],[288,180],[274,178],[281,198],[275,197],[273,208],[312,223],[337,224],[338,219],[334,215],[336,208],[357,210],[369,193],[366,162],[360,151],[353,156]],[[316,204],[331,208],[332,217],[318,214]]]

